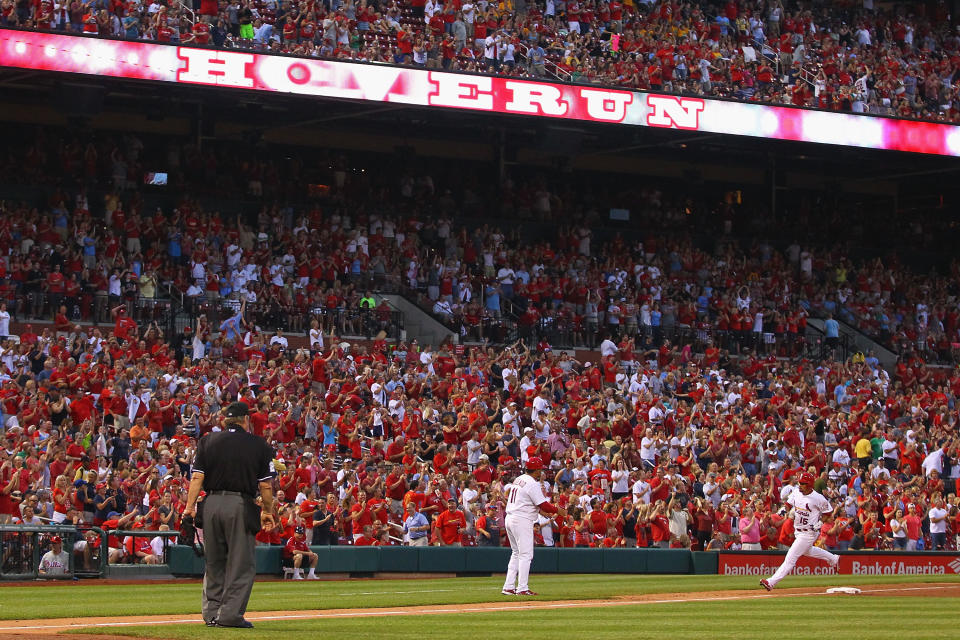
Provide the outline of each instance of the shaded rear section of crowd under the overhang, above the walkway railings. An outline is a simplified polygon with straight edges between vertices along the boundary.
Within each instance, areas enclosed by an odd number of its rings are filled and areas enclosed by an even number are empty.
[[[397,337],[389,307],[370,295],[375,288],[409,293],[468,342],[595,348],[610,333],[633,338],[641,351],[670,339],[697,351],[712,344],[792,357],[806,353],[813,316],[825,320],[829,341],[839,337],[837,319],[893,349],[902,375],[921,360],[954,362],[960,348],[956,262],[937,275],[911,269],[896,253],[856,260],[847,244],[807,241],[799,228],[779,250],[740,241],[757,209],[730,194],[631,189],[615,178],[600,194],[542,174],[484,190],[464,186],[460,171],[387,178],[376,168],[348,170],[340,158],[331,159],[326,200],[291,206],[277,203],[305,199],[285,180],[304,176],[306,157],[260,154],[247,162],[229,150],[170,145],[162,160],[145,159],[145,146],[134,136],[84,144],[42,132],[22,148],[11,145],[3,168],[51,184],[43,207],[2,205],[6,313],[53,320],[52,331],[67,338],[77,322],[114,322],[121,304],[139,322],[160,321],[170,297],[182,295],[206,315],[204,332],[245,302],[247,320],[269,333],[372,337],[388,329]],[[153,163],[172,168],[171,186],[183,194],[166,208],[148,206],[139,184]],[[73,187],[57,178],[77,174],[84,179]],[[205,207],[192,195],[200,183],[263,206],[251,218]],[[95,187],[106,192],[91,203]],[[536,227],[536,240],[516,223],[471,222],[491,199],[503,218]],[[595,237],[609,224],[602,212],[625,202],[643,232]],[[788,217],[801,227],[822,223]],[[564,223],[551,226],[554,219]],[[851,219],[843,220],[847,241]],[[939,228],[920,231],[913,235]],[[703,241],[702,233],[713,237]],[[219,351],[233,337],[209,348]]]

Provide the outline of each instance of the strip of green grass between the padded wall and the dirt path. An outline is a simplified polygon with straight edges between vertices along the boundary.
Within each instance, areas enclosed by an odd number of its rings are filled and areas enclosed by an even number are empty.
[[[757,582],[757,578],[740,576],[543,575],[532,576],[530,584],[540,593],[541,600],[574,600],[647,593],[758,590]],[[960,583],[960,576],[797,576],[787,578],[781,586],[859,586],[922,582]],[[284,611],[491,602],[506,599],[500,595],[502,584],[503,578],[500,576],[261,582],[253,589],[249,610]],[[871,602],[873,601],[871,599]],[[911,603],[919,601],[909,600]],[[0,587],[0,619],[4,620],[186,614],[197,613],[199,604],[200,584],[197,582],[137,585],[78,582],[55,586]]]

